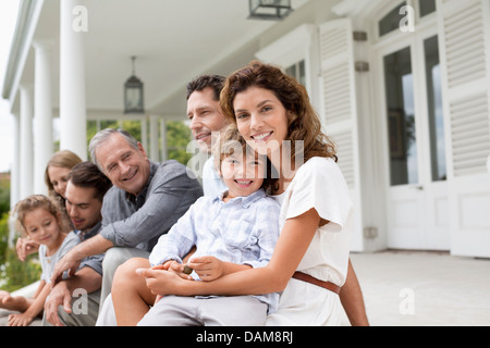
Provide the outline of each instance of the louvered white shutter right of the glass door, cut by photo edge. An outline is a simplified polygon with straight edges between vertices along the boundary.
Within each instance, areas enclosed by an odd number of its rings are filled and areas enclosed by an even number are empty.
[[[438,0],[451,252],[490,257],[490,5]]]

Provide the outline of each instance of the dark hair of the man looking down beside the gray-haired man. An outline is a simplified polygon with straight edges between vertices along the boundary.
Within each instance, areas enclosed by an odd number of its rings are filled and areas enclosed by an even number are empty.
[[[111,181],[99,171],[95,163],[89,161],[76,164],[68,179],[76,187],[95,188],[95,198],[99,201],[103,200],[103,195],[112,186]]]

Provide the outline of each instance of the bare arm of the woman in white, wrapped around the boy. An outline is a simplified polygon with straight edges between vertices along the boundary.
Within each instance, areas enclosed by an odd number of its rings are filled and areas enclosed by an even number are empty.
[[[260,295],[282,291],[296,271],[315,235],[320,216],[315,209],[289,219],[284,224],[269,264],[229,274],[211,282],[182,279],[171,272],[138,270],[147,286],[160,295]]]

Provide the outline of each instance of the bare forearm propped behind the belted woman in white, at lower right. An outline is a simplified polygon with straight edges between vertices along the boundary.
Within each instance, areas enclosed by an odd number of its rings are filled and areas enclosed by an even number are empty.
[[[340,299],[352,326],[369,326],[363,293],[351,259],[348,259],[347,278],[342,286]]]

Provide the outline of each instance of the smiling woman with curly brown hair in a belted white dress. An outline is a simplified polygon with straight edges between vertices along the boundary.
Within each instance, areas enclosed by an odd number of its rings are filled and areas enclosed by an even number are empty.
[[[268,325],[339,325],[353,204],[334,145],[321,132],[306,89],[281,70],[252,62],[228,77],[220,103],[279,173],[274,195],[282,203],[281,235],[274,253],[265,268],[211,282],[148,270],[147,286],[154,294],[182,296],[281,291]]]

